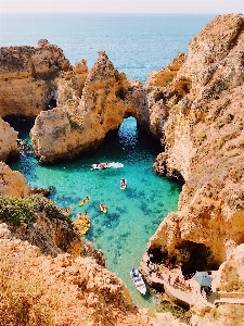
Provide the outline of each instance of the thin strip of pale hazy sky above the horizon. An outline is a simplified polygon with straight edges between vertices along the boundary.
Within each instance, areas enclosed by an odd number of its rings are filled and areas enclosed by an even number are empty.
[[[244,13],[244,0],[0,0],[0,12]]]

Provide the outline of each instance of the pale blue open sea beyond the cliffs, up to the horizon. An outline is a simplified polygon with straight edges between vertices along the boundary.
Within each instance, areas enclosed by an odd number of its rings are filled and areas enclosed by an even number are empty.
[[[215,14],[0,13],[0,46],[37,46],[48,39],[72,64],[86,59],[91,68],[105,51],[128,79],[145,83],[165,67]]]

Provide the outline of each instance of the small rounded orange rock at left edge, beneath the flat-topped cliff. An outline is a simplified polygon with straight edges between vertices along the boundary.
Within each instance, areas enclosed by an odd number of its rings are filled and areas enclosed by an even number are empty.
[[[7,122],[0,118],[0,161],[18,155],[17,135]]]

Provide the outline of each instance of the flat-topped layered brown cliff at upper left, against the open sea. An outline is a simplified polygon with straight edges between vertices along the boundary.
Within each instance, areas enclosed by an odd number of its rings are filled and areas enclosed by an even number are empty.
[[[0,48],[0,116],[35,118],[47,110],[56,77],[72,66],[63,51],[44,39],[34,47]]]

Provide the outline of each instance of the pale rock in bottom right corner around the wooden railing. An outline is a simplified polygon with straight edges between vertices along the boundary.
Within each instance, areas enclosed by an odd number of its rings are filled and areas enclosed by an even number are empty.
[[[216,293],[215,305],[206,305],[206,300],[194,293],[191,308],[192,326],[241,325],[244,314],[244,247],[236,247],[222,263],[219,271],[213,272],[211,287]]]

